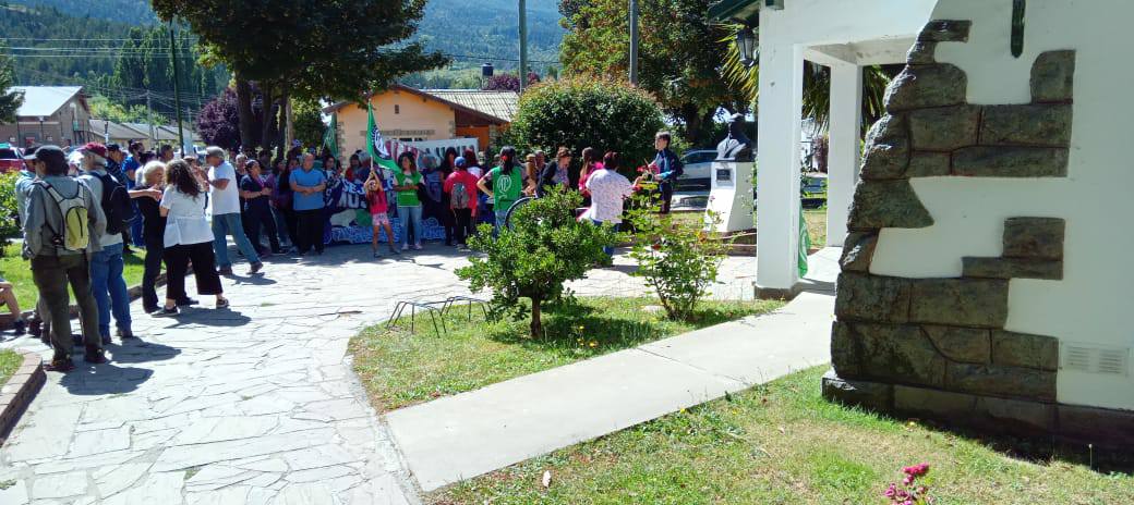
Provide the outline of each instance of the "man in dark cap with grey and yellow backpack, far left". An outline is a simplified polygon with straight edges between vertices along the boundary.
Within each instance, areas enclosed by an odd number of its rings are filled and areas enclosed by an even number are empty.
[[[32,263],[32,280],[46,308],[44,317],[51,320],[49,333],[54,354],[44,368],[52,371],[74,368],[67,284],[78,305],[86,348],[84,359],[105,362],[87,263],[99,250],[98,237],[104,232],[105,216],[91,190],[67,177],[67,156],[58,146],[42,146],[24,160],[41,174],[27,192],[24,255]]]

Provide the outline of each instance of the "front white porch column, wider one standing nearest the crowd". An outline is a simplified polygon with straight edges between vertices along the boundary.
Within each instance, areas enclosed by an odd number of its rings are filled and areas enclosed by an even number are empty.
[[[790,298],[799,280],[803,48],[777,43],[770,28],[760,31],[756,294]]]

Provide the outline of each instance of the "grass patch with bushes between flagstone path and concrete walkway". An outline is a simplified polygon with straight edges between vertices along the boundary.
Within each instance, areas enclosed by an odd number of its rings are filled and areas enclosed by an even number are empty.
[[[705,301],[695,323],[675,323],[651,298],[579,298],[544,309],[542,340],[527,337],[528,322],[486,322],[464,307],[446,316],[449,334],[435,335],[418,315],[417,333],[384,325],[350,340],[354,369],[381,411],[463,393],[522,375],[678,335],[778,308],[778,301]],[[660,307],[658,307],[660,309]]]

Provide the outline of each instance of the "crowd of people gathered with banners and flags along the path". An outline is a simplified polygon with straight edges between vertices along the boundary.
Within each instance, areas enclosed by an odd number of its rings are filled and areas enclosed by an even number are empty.
[[[682,174],[669,142],[668,132],[657,135],[654,162],[641,168],[634,182],[618,173],[624,166],[617,153],[599,155],[590,147],[579,153],[582,163],[574,172],[574,155],[566,147],[550,161],[543,152],[521,157],[513,147],[492,160],[471,149],[449,148],[442,160],[403,153],[391,170],[365,152],[352,154],[344,166],[335,156],[316,163],[314,153],[298,147],[272,160],[268,152],[229,153],[220,147],[208,147],[200,157],[176,159],[170,146],[151,152],[141,143],[132,143],[126,152],[116,144],[90,143],[70,155],[52,145],[33,146],[16,185],[23,252],[40,296],[31,329],[54,351],[45,365],[49,370],[70,370],[78,345],[85,361],[105,362],[111,325],[117,337],[135,337],[124,277],[130,247],[145,250],[145,313],[176,316],[198,303],[186,291],[191,266],[197,294],[215,297],[214,307],[226,309],[222,276],[232,275],[228,238],[248,263],[248,275],[261,273],[262,258],[271,255],[322,255],[329,225],[324,195],[338,181],[350,181],[365,192],[374,257],[382,256],[383,236],[391,255],[421,250],[423,208],[439,217],[447,246],[467,249],[477,223],[499,230],[516,202],[543,197],[556,187],[579,191],[586,207],[579,219],[596,224],[617,226],[624,200],[635,190],[659,194],[662,212],[668,212],[672,183]],[[156,286],[162,266],[163,299]],[[79,335],[70,332],[68,286],[79,313]],[[2,279],[0,299],[12,309],[16,331],[23,333],[27,323],[12,286]]]

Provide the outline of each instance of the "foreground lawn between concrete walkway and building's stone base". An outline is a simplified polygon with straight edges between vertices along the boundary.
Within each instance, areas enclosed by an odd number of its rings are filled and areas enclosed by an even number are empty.
[[[456,504],[883,504],[928,462],[938,505],[1129,504],[1134,477],[1017,459],[914,421],[828,403],[826,366],[567,447],[428,497]],[[544,472],[551,483],[544,488]]]

